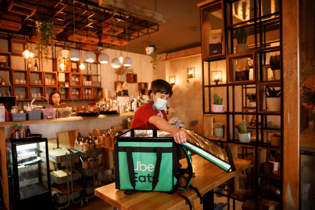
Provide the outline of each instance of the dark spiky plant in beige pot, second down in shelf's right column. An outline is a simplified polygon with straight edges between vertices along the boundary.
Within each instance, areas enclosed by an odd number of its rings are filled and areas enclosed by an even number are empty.
[[[266,88],[262,90],[266,94],[267,109],[270,112],[279,112],[281,110],[281,94],[280,88],[276,90],[266,85]]]

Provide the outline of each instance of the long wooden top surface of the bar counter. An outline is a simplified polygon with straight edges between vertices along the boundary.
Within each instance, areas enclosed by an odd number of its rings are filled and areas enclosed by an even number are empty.
[[[65,117],[65,118],[57,118],[57,119],[42,119],[42,120],[26,120],[26,121],[10,121],[10,122],[2,122],[0,123],[0,127],[5,126],[13,126],[17,125],[32,125],[32,124],[43,124],[43,123],[55,123],[55,122],[69,122],[69,121],[80,121],[80,120],[89,120],[89,119],[104,119],[111,117],[121,117],[121,116],[134,116],[134,112],[125,112],[120,114],[100,114],[96,116],[77,116],[77,117]]]

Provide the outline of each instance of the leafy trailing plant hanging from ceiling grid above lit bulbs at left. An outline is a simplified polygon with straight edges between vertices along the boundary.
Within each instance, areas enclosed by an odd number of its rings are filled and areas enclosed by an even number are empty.
[[[35,21],[36,32],[39,39],[35,49],[38,50],[37,55],[40,60],[47,61],[49,48],[54,46],[54,39],[57,33],[53,25],[54,22],[48,17],[41,17]]]

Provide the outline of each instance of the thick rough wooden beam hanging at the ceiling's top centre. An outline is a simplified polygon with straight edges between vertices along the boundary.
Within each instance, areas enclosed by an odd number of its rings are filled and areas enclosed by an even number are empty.
[[[153,23],[165,23],[165,17],[161,13],[141,7],[137,4],[129,2],[128,0],[99,0],[99,6],[112,9],[117,12],[126,13]]]

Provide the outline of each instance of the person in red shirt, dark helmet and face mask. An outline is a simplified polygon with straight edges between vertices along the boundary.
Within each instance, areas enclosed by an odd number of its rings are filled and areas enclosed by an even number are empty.
[[[172,94],[172,86],[167,81],[153,80],[148,88],[149,101],[137,109],[130,128],[163,130],[171,133],[176,143],[186,143],[185,132],[170,124],[164,111]]]

